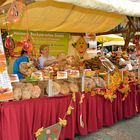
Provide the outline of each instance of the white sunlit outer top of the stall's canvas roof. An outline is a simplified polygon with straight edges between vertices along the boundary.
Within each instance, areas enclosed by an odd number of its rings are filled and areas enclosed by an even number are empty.
[[[140,2],[135,0],[56,0],[90,9],[140,17]]]

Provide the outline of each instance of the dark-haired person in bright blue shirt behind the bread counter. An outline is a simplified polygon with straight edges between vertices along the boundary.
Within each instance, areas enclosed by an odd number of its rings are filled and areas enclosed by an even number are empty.
[[[28,56],[27,56],[27,51],[22,50],[21,51],[21,56],[18,57],[15,61],[14,61],[14,65],[13,65],[13,73],[18,75],[19,79],[23,79],[23,75],[22,73],[19,71],[19,66],[21,62],[29,62]]]

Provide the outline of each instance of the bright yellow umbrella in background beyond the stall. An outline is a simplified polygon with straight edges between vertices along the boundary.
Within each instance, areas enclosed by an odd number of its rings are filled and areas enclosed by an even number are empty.
[[[96,41],[97,42],[110,42],[110,41],[124,41],[123,37],[119,36],[119,35],[114,35],[114,34],[110,34],[110,35],[100,35],[96,37]]]

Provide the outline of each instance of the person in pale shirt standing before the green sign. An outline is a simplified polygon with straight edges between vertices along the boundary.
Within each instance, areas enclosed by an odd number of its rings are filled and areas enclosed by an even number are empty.
[[[48,45],[43,44],[40,46],[40,54],[41,56],[38,59],[40,68],[52,65],[53,63],[57,62],[54,56],[49,56]]]

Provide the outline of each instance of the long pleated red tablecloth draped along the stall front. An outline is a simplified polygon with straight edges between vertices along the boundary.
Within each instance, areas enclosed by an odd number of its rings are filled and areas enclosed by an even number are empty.
[[[131,85],[130,94],[125,101],[117,92],[113,103],[101,95],[85,94],[83,104],[79,104],[81,93],[77,93],[73,103],[72,115],[67,117],[68,125],[62,129],[60,140],[74,139],[75,134],[87,135],[103,126],[136,115],[136,106],[140,112],[140,90]],[[61,97],[43,97],[38,99],[1,103],[0,140],[35,140],[34,133],[40,127],[48,127],[63,118],[71,100],[71,95]],[[80,115],[84,128],[80,126]]]

